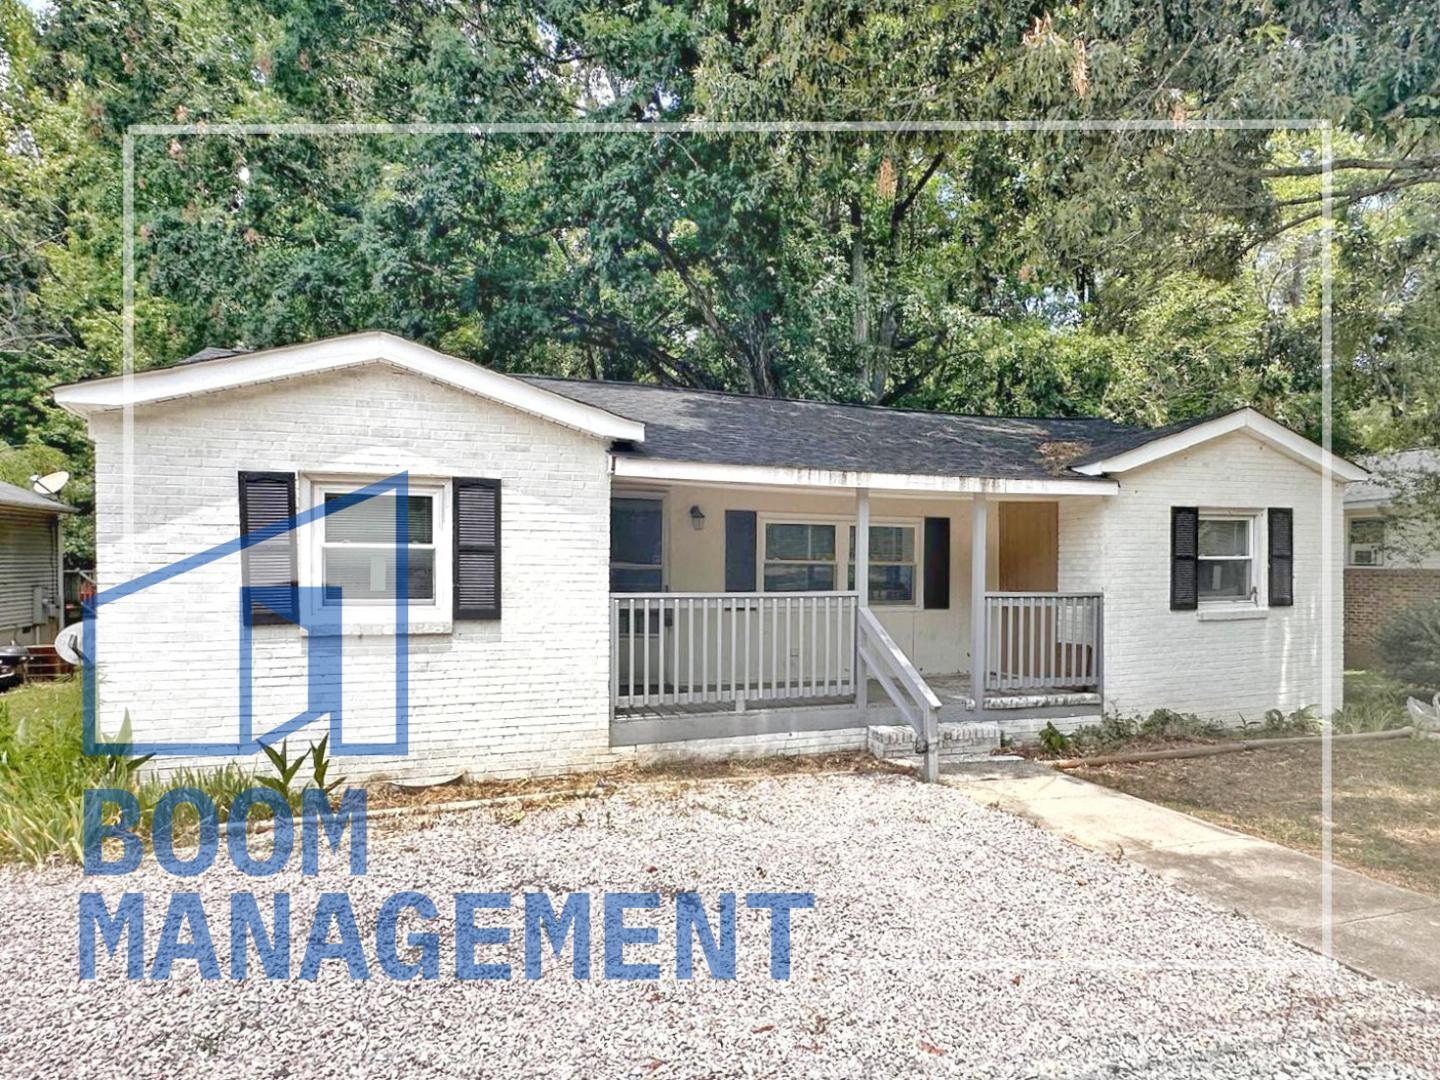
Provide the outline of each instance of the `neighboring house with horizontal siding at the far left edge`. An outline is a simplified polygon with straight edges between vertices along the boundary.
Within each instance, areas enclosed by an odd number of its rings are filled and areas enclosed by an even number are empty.
[[[49,645],[65,603],[60,520],[53,498],[0,482],[0,645]]]

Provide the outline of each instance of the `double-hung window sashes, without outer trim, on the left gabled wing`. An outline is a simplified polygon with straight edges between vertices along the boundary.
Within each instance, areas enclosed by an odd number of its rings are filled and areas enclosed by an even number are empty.
[[[315,494],[325,505],[334,505],[361,487],[364,484],[324,485]],[[406,599],[410,605],[438,603],[439,495],[439,491],[406,495]],[[396,497],[386,494],[325,514],[318,530],[318,569],[327,600],[338,598],[344,605],[395,602],[397,510]]]

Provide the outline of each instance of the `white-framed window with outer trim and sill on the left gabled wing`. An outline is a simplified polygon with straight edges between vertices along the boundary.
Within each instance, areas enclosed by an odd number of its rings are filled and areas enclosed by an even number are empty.
[[[310,478],[308,505],[336,505],[377,480],[382,478]],[[406,485],[406,603],[413,616],[451,618],[454,539],[449,504],[445,482],[412,480]],[[383,612],[395,606],[397,513],[396,495],[386,492],[334,510],[305,530],[301,582],[321,586],[324,603],[376,612],[374,619],[347,618],[347,625],[384,621]]]

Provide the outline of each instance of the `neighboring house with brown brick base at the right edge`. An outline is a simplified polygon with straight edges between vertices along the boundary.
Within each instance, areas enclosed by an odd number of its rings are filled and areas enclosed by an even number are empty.
[[[1345,491],[1345,665],[1352,668],[1375,665],[1375,636],[1395,611],[1440,600],[1440,546],[1427,550],[1431,544],[1420,536],[1397,543],[1387,537],[1395,526],[1385,521],[1394,474],[1440,471],[1440,451],[1401,451],[1364,464],[1374,475]]]

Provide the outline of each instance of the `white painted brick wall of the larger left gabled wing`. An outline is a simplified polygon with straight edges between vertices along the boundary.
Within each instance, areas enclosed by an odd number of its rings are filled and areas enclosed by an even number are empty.
[[[92,423],[101,588],[233,539],[236,472],[503,481],[503,618],[412,632],[410,755],[344,759],[350,778],[439,780],[588,768],[609,752],[609,475],[605,445],[393,369],[370,366],[135,410],[132,541],[118,415]],[[304,501],[301,503],[304,505]],[[448,508],[446,521],[448,524]],[[101,721],[137,739],[235,730],[239,563],[226,559],[102,608]],[[255,631],[255,713],[304,710],[308,639]],[[344,636],[347,737],[387,733],[393,636]],[[320,732],[302,733],[304,747]]]

